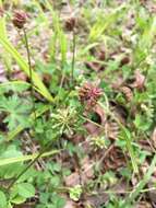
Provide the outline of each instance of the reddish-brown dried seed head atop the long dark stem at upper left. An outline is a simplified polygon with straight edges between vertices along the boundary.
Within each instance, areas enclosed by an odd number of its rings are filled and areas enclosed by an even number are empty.
[[[26,23],[27,14],[23,11],[16,11],[13,16],[13,24],[17,28],[23,28],[24,24]]]

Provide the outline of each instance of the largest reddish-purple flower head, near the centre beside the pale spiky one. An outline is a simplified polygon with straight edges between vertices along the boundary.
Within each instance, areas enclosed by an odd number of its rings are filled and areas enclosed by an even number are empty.
[[[101,95],[101,89],[87,82],[79,91],[79,97],[81,103],[86,104],[88,108],[94,107],[97,104]]]

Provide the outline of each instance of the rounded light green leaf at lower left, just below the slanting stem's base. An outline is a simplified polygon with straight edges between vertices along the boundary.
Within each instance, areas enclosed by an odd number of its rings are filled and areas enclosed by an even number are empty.
[[[17,189],[19,189],[19,195],[25,198],[29,198],[35,195],[34,186],[28,183],[17,184]]]

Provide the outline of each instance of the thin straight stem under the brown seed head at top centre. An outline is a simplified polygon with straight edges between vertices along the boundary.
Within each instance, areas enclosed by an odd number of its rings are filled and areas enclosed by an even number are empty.
[[[76,46],[76,36],[75,30],[73,28],[73,44],[72,44],[72,70],[71,70],[71,83],[73,84],[74,79],[74,68],[75,68],[75,46]]]

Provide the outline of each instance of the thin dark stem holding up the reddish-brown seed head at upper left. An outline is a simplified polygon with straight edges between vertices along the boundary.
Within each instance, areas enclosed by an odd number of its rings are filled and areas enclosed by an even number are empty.
[[[28,38],[26,35],[26,30],[24,27],[23,27],[23,33],[24,33],[25,48],[26,48],[26,53],[27,53],[28,69],[29,69],[31,97],[32,97],[32,103],[33,103],[34,127],[35,127],[36,111],[35,111],[34,83],[33,83],[33,72],[32,72],[33,70],[32,70],[32,62],[31,62],[31,51],[29,51],[29,46],[28,46]]]

